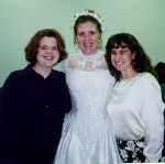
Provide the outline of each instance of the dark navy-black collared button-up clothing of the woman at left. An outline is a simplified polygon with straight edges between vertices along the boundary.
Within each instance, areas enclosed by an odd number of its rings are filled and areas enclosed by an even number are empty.
[[[31,66],[15,70],[2,87],[2,158],[52,164],[70,109],[65,74],[52,70],[45,79]]]

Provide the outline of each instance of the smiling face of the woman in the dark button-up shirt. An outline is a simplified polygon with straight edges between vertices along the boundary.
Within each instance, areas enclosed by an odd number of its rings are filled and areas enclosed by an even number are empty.
[[[59,59],[59,51],[55,37],[44,36],[38,46],[36,65],[40,67],[52,68]]]

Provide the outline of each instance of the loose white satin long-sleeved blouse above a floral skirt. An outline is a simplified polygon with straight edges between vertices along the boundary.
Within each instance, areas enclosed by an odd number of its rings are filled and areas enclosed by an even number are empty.
[[[107,109],[114,135],[121,140],[144,138],[144,155],[150,162],[157,162],[164,142],[165,105],[156,79],[150,73],[121,79],[113,88]]]

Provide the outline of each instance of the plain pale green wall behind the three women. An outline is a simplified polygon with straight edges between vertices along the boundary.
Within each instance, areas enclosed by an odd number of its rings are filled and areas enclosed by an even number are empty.
[[[1,0],[0,86],[10,72],[26,65],[24,47],[40,29],[56,28],[74,53],[72,19],[82,9],[94,9],[105,19],[103,46],[111,34],[129,32],[154,65],[165,62],[165,0]]]

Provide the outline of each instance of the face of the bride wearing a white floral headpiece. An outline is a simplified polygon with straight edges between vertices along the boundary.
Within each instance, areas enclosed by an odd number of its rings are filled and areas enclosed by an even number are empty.
[[[98,51],[100,34],[92,22],[80,23],[77,26],[77,43],[85,55],[92,55]]]

